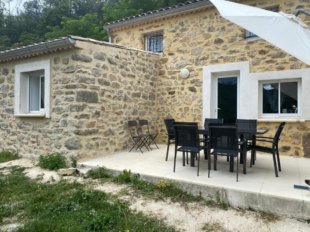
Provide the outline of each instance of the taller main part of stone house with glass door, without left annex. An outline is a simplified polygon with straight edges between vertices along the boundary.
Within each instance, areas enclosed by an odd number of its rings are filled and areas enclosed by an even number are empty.
[[[299,8],[310,11],[308,0],[235,2],[290,14]],[[310,25],[310,17],[299,17]],[[210,1],[128,16],[104,28],[110,42],[160,54],[160,142],[166,142],[164,118],[200,125],[204,118],[258,119],[258,127],[268,128],[267,136],[272,137],[279,122],[286,121],[281,154],[310,157],[309,66],[219,17]],[[189,71],[186,79],[180,76],[184,68]]]

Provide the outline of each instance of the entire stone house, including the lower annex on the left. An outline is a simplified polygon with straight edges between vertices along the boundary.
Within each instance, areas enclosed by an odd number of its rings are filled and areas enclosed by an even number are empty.
[[[245,0],[271,11],[308,0]],[[299,15],[310,24],[310,18]],[[282,155],[310,157],[310,69],[193,0],[106,23],[109,42],[68,36],[0,53],[0,146],[24,157],[105,156],[131,144],[127,120],[258,119]],[[180,71],[189,71],[187,78]]]

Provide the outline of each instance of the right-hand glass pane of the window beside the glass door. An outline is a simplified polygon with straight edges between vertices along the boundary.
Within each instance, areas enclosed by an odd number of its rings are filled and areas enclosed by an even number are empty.
[[[280,83],[280,109],[282,114],[297,114],[298,83]]]

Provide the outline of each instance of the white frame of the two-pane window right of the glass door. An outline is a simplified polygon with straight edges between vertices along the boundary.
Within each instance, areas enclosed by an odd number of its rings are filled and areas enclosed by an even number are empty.
[[[283,114],[281,113],[281,104],[280,104],[280,94],[281,94],[281,83],[283,82],[297,82],[297,114]],[[278,83],[279,84],[279,90],[278,90],[278,112],[277,114],[263,114],[263,84],[270,84],[270,83]],[[259,81],[259,108],[260,108],[260,116],[261,117],[300,117],[301,111],[302,111],[302,104],[301,104],[301,79],[271,79],[271,80],[264,80]]]

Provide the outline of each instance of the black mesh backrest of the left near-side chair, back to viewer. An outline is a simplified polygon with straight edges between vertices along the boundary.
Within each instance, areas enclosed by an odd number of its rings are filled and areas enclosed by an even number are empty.
[[[175,147],[185,146],[199,148],[198,124],[195,125],[176,125],[174,122],[173,129],[175,134]]]

